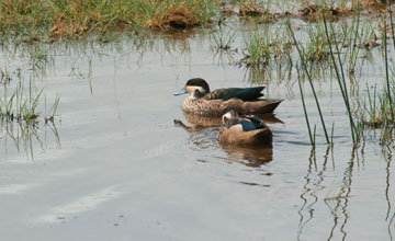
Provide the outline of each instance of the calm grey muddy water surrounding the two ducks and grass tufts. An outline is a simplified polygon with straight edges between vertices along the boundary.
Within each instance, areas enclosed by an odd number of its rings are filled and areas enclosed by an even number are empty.
[[[168,39],[145,50],[133,37],[54,44],[44,70],[23,49],[2,54],[10,70],[38,76],[48,100],[61,96],[55,126],[41,124],[32,138],[19,142],[2,127],[2,240],[393,239],[392,145],[370,131],[352,147],[337,82],[315,83],[334,148],[305,83],[317,125],[311,148],[295,73],[262,81],[267,96],[284,99],[263,116],[272,148],[221,146],[218,120],[185,115],[184,96],[171,93],[193,77],[212,89],[249,87],[246,70],[214,56],[207,33]],[[382,82],[382,69],[363,68],[360,95]]]

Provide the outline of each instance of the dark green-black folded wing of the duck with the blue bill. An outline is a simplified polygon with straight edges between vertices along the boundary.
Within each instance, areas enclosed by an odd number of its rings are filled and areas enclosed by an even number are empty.
[[[227,101],[233,97],[240,99],[241,101],[255,101],[260,96],[263,96],[263,94],[261,93],[264,87],[218,89],[210,92],[204,97],[206,100],[222,101]]]

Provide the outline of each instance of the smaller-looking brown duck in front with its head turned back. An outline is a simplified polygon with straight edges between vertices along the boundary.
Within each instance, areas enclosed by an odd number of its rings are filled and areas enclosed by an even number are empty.
[[[239,116],[235,110],[225,110],[223,126],[218,133],[219,144],[258,146],[271,145],[273,135],[256,115]]]

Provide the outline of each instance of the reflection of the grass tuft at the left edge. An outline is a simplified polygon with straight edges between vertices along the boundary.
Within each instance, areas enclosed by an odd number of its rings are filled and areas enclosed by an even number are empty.
[[[24,152],[31,160],[34,160],[36,146],[43,150],[46,149],[48,134],[55,137],[55,142],[60,148],[60,138],[54,122],[47,122],[43,126],[38,123],[0,122],[0,140],[3,142],[4,152],[9,152],[9,140],[11,140],[11,148],[15,148],[18,152]]]

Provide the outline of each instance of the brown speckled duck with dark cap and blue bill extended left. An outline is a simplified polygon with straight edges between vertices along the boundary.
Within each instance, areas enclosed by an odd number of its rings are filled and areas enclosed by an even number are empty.
[[[223,88],[210,91],[208,83],[202,78],[187,81],[184,88],[173,95],[189,93],[182,110],[189,113],[222,116],[226,108],[234,108],[245,114],[264,114],[273,112],[282,100],[260,99],[264,87]]]

